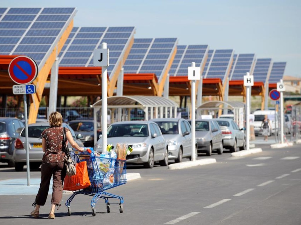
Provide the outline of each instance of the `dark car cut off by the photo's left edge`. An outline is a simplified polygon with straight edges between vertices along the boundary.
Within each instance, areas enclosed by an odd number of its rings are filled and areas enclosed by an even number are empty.
[[[14,141],[24,127],[20,119],[0,117],[0,162],[14,167]]]

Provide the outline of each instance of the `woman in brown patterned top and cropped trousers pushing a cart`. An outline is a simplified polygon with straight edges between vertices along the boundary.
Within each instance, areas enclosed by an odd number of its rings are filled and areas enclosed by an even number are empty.
[[[42,132],[42,149],[44,152],[41,167],[41,183],[38,194],[36,195],[33,206],[35,209],[30,213],[31,216],[38,218],[39,209],[41,205],[45,205],[49,185],[52,177],[52,198],[51,209],[48,219],[54,219],[54,210],[57,206],[59,210],[61,199],[63,195],[63,182],[66,176],[66,165],[64,164],[65,153],[62,151],[63,144],[63,117],[59,112],[52,112],[49,116],[50,127]],[[73,140],[72,134],[68,128],[65,128],[66,138],[70,145],[83,152],[84,149],[79,147]]]

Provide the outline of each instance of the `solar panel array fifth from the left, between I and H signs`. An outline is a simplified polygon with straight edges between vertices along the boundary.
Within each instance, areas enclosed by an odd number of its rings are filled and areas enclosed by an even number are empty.
[[[233,55],[233,49],[213,51],[208,65],[209,69],[207,70],[204,78],[220,78],[224,81],[229,69],[231,68]]]

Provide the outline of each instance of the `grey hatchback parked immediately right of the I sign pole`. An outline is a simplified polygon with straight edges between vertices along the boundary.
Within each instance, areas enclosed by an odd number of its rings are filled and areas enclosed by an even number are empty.
[[[191,120],[189,123],[191,124]],[[216,121],[196,119],[195,139],[198,153],[206,153],[207,156],[210,156],[213,150],[216,150],[219,155],[223,153],[222,131]]]

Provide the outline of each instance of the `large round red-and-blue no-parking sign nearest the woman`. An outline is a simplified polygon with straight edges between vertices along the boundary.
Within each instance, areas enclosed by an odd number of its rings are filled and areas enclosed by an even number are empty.
[[[36,61],[28,56],[18,56],[8,66],[8,74],[17,84],[33,82],[38,75],[38,70]]]

